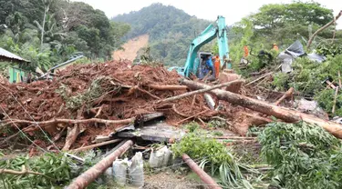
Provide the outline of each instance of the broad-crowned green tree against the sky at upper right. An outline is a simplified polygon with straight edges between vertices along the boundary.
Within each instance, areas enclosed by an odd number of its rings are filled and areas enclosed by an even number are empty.
[[[326,25],[333,19],[333,13],[315,2],[295,2],[264,5],[249,19],[254,25],[254,41],[290,45],[298,37],[308,39],[310,30]],[[327,34],[324,32],[321,36],[327,37]]]

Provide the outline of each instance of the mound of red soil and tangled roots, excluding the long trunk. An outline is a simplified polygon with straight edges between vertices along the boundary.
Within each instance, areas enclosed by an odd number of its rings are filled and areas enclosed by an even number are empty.
[[[86,145],[97,135],[108,135],[121,126],[139,123],[144,114],[162,113],[165,122],[180,125],[193,118],[208,121],[224,111],[208,109],[202,94],[176,101],[162,100],[189,91],[180,85],[181,76],[162,66],[131,65],[130,61],[72,65],[53,80],[0,87],[2,136],[16,131],[16,125],[31,136],[43,128],[60,141],[71,134],[74,142]],[[195,115],[195,116],[193,116]],[[8,127],[11,125],[10,127]],[[72,134],[74,133],[74,134]],[[79,134],[79,135],[78,135]],[[78,140],[76,138],[78,137]]]

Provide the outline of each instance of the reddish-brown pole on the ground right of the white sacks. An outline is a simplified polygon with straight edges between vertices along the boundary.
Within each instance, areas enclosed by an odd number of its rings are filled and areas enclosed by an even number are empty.
[[[217,184],[212,177],[205,173],[201,167],[199,167],[195,162],[193,162],[192,158],[189,157],[189,155],[187,154],[182,154],[181,158],[184,160],[184,162],[186,164],[189,165],[189,167],[192,169],[192,171],[197,174],[198,176],[200,176],[201,180],[203,181],[203,183],[208,184],[207,186],[211,189],[222,189],[222,187]]]

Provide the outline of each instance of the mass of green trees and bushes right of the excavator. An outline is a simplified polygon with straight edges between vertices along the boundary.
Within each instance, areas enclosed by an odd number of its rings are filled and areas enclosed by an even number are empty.
[[[280,50],[292,45],[297,39],[306,45],[309,35],[332,19],[332,11],[315,2],[263,5],[257,13],[233,25],[231,35],[235,37],[230,39],[229,45],[230,56],[235,64],[234,69],[239,70],[237,65],[244,55],[244,45],[248,45],[250,51],[250,55],[246,58],[250,64],[242,70],[243,75],[260,71],[276,63],[274,60],[279,52],[271,50],[273,44],[278,45]],[[331,45],[333,29],[334,27],[330,26],[319,33],[312,47],[322,46],[321,53],[324,54],[323,44]],[[340,44],[342,31],[337,33],[335,43]],[[272,61],[264,55],[258,56],[261,51],[270,53]]]

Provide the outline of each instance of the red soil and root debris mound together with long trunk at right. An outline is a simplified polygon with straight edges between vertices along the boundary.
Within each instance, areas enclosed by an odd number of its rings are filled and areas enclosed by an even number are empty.
[[[132,124],[141,126],[161,116],[173,126],[192,120],[205,126],[205,122],[218,118],[240,135],[246,134],[250,125],[270,123],[270,116],[275,116],[289,123],[304,120],[342,136],[340,124],[277,106],[291,94],[268,104],[247,97],[253,89],[244,87],[242,94],[237,94],[237,90],[232,93],[226,88],[242,83],[235,80],[204,85],[181,78],[161,65],[131,65],[128,61],[72,65],[53,80],[2,83],[0,126],[6,129],[0,134],[11,136],[20,127],[36,139],[44,130],[54,136],[58,148],[69,150],[88,145],[98,135],[113,134]]]

